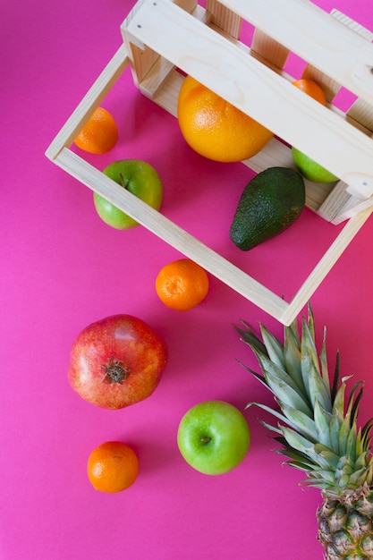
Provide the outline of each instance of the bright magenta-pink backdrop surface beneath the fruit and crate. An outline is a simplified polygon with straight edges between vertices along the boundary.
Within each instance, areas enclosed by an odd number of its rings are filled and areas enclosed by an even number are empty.
[[[365,0],[317,4],[373,29]],[[272,403],[236,361],[257,367],[233,324],[264,321],[279,336],[281,325],[214,277],[198,308],[166,309],[155,277],[180,254],[143,228],[117,232],[103,224],[91,192],[44,156],[120,46],[119,26],[132,5],[34,0],[2,8],[0,558],[316,560],[319,492],[300,488],[301,473],[271,451],[258,421],[264,414],[244,412],[250,453],[224,476],[193,471],[175,441],[183,413],[200,401],[223,399],[242,411],[251,400]],[[123,157],[155,165],[166,216],[291,299],[340,227],[305,210],[271,242],[236,250],[229,225],[250,171],[192,153],[174,117],[140,96],[130,72],[103,106],[120,140],[89,161],[100,169]],[[373,397],[372,238],[370,219],[312,298],[318,335],[328,327],[332,367],[339,348],[343,375],[366,381],[361,422]],[[112,412],[75,395],[66,369],[81,328],[122,312],[157,329],[169,363],[152,397]],[[140,459],[138,480],[117,495],[96,492],[86,476],[90,451],[110,439],[132,445]]]

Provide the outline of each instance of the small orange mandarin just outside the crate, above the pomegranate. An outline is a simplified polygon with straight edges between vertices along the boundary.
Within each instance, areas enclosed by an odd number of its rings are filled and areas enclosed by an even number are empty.
[[[208,274],[190,259],[178,259],[161,268],[156,279],[156,291],[167,307],[188,311],[208,294]]]

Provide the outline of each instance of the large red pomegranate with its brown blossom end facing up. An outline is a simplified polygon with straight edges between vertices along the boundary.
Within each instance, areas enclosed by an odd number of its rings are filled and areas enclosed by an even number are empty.
[[[113,315],[78,335],[68,379],[85,401],[121,409],[152,395],[166,363],[165,343],[147,323],[131,315]]]

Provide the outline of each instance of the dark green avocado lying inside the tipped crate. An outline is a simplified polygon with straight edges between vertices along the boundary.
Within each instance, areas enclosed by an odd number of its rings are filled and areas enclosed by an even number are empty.
[[[304,181],[295,169],[269,167],[246,185],[230,230],[233,243],[250,250],[284,232],[301,215]]]

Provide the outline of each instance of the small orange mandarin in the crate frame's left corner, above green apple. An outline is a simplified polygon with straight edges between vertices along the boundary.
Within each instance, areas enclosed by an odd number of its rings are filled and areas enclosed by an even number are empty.
[[[75,138],[78,148],[90,154],[105,154],[114,148],[118,140],[118,128],[111,115],[103,107],[97,107],[89,121]]]

